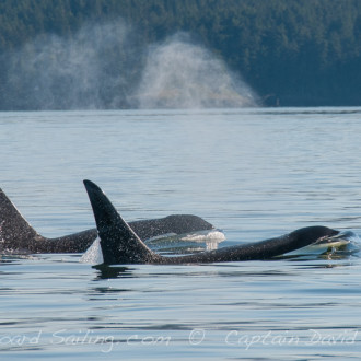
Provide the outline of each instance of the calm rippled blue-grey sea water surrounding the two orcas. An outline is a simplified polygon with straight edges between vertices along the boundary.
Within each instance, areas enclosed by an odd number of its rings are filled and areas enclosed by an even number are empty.
[[[0,187],[45,236],[194,213],[220,246],[323,224],[361,234],[361,108],[0,113]],[[3,257],[4,360],[352,360],[361,261],[132,266]]]

